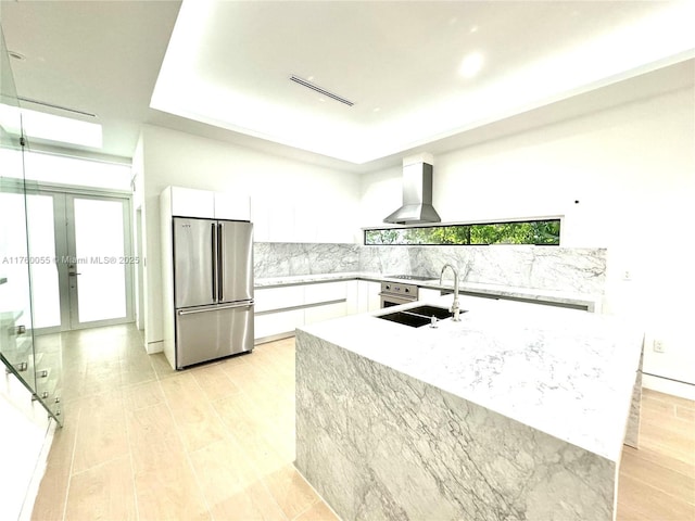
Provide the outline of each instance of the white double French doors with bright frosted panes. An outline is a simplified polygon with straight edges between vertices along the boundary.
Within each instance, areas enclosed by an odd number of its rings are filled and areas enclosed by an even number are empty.
[[[27,215],[35,329],[132,321],[130,200],[41,190]]]

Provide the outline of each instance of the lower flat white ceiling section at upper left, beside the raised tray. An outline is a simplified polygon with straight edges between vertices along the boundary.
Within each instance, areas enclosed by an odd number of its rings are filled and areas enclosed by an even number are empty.
[[[2,1],[0,24],[20,97],[97,114],[23,103],[103,127],[103,148],[81,151],[131,157],[180,2]],[[34,141],[35,148],[59,143]]]

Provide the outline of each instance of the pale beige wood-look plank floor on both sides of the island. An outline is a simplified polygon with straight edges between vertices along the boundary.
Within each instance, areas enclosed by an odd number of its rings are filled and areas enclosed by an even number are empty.
[[[293,339],[182,372],[132,325],[37,340],[63,352],[65,427],[34,520],[337,519],[292,467]],[[645,390],[641,444],[618,520],[695,520],[695,403]]]

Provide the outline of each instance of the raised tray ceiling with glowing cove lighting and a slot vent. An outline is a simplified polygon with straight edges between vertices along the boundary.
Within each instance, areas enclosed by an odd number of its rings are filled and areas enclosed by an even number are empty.
[[[152,106],[365,163],[681,60],[692,8],[185,1]]]

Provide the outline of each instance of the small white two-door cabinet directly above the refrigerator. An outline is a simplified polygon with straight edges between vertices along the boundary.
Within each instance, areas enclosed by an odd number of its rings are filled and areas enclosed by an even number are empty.
[[[251,199],[238,193],[168,187],[162,201],[170,204],[170,215],[175,217],[251,220]]]

